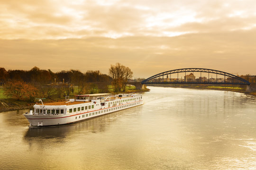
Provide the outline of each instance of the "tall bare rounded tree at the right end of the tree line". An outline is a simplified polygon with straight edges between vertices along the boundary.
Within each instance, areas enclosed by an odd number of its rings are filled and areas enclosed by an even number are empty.
[[[115,86],[115,91],[125,92],[125,87],[127,85],[128,79],[132,78],[133,72],[130,68],[116,63],[116,65],[110,65],[109,75],[113,79],[113,85]]]

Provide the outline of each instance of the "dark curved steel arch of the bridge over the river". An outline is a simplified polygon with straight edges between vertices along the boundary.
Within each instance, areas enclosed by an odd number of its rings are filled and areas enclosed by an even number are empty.
[[[231,77],[233,79],[236,79],[236,80],[239,80],[241,81],[241,83],[237,83],[237,82],[233,82],[233,83],[229,83],[229,82],[224,82],[224,83],[221,83],[221,82],[149,82],[150,80],[154,79],[154,78],[157,78],[157,77],[161,77],[161,76],[165,76],[165,75],[170,75],[170,74],[174,74],[174,73],[183,73],[183,72],[204,72],[204,73],[214,73],[214,74],[217,74],[217,75],[222,75],[222,76],[228,76],[228,77]],[[143,80],[141,82],[141,84],[174,84],[174,83],[182,83],[182,84],[231,84],[231,85],[250,85],[250,82],[248,82],[247,80],[241,78],[241,77],[238,77],[238,76],[235,76],[233,74],[230,74],[230,73],[227,73],[227,72],[224,72],[224,71],[219,71],[219,70],[214,70],[214,69],[208,69],[208,68],[180,68],[180,69],[174,69],[174,70],[169,70],[169,71],[165,71],[165,72],[162,72],[162,73],[159,73],[159,74],[156,74],[154,76],[151,76],[151,77],[148,77],[146,78],[145,80]]]

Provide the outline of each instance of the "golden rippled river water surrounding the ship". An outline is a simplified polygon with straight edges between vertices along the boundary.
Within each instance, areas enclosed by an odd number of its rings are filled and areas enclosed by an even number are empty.
[[[60,127],[0,113],[1,170],[255,170],[256,98],[149,87],[142,106]]]

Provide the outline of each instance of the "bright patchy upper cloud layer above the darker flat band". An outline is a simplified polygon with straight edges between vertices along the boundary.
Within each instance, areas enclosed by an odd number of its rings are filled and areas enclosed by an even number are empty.
[[[252,29],[253,0],[0,1],[3,39],[177,36]]]

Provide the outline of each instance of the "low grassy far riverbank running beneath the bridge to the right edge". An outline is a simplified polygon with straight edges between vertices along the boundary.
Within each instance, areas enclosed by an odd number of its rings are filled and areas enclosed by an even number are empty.
[[[238,92],[244,93],[247,95],[252,95],[256,97],[256,91],[246,91],[246,87],[244,86],[214,86],[214,85],[180,85],[180,84],[155,84],[148,86],[156,86],[156,87],[174,87],[174,88],[192,88],[192,89],[208,89],[208,90],[221,90],[221,91],[230,91],[230,92]]]

